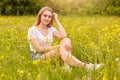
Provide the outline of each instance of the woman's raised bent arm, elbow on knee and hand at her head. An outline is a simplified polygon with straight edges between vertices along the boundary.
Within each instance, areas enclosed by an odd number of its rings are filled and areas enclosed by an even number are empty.
[[[67,37],[67,34],[65,32],[65,29],[61,25],[60,21],[58,20],[58,15],[54,13],[54,20],[58,26],[58,31],[54,32],[54,36],[57,38],[65,38]]]

